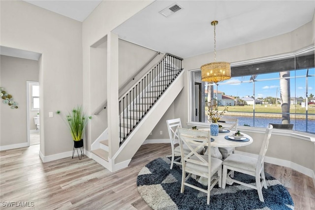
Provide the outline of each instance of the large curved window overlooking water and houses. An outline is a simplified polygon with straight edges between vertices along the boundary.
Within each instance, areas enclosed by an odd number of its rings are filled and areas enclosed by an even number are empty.
[[[239,125],[274,123],[315,133],[314,48],[289,57],[232,64],[231,74],[231,79],[216,85],[202,82],[200,70],[191,72],[191,121],[208,122],[207,102],[217,100],[219,110],[228,107],[224,117],[238,118]]]

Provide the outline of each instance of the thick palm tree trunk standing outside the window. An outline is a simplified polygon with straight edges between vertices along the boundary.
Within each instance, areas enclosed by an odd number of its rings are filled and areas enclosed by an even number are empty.
[[[290,124],[290,71],[280,72],[282,124]],[[277,103],[277,102],[276,102]]]

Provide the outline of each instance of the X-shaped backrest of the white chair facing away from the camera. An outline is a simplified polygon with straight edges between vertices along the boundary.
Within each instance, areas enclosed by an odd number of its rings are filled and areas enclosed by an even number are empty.
[[[210,131],[205,130],[190,130],[185,128],[178,128],[179,136],[180,136],[180,147],[181,151],[183,151],[183,145],[186,145],[187,148],[189,148],[190,152],[188,154],[182,154],[182,159],[191,162],[194,164],[202,165],[202,166],[211,166],[211,151],[210,154],[208,154],[208,161],[206,161],[204,158],[200,156],[200,154],[197,152],[200,148],[208,147],[210,149],[211,147],[211,137],[210,137]],[[191,159],[191,156],[194,155],[196,159]],[[183,164],[185,164],[185,161],[183,161]],[[210,163],[210,164],[209,164]]]

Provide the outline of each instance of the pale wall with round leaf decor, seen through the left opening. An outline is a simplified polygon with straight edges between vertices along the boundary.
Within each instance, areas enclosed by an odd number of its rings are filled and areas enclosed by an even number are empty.
[[[12,95],[18,109],[11,109],[1,99],[0,146],[27,143],[26,81],[38,81],[38,61],[0,56],[0,87]],[[33,120],[33,119],[32,119]],[[34,121],[32,121],[34,124]]]

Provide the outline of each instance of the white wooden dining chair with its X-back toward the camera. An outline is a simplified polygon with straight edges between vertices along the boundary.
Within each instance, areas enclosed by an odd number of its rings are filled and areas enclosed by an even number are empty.
[[[197,150],[204,147],[211,147],[210,131],[189,130],[178,128],[180,136],[180,149],[182,156],[182,185],[181,193],[184,193],[185,186],[192,187],[207,193],[207,204],[210,203],[210,190],[218,183],[221,187],[222,181],[222,160],[209,155],[201,155]],[[190,152],[184,152],[184,145],[187,145]],[[186,176],[188,173],[188,176]],[[208,179],[207,189],[203,189],[187,182],[191,175],[196,175]]]

